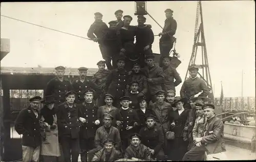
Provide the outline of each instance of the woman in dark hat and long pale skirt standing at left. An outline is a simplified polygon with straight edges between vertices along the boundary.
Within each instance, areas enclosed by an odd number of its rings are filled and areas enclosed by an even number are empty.
[[[57,116],[55,112],[53,96],[46,96],[44,103],[45,106],[40,110],[40,126],[44,129],[45,142],[41,144],[40,155],[42,155],[42,161],[57,161],[57,157],[60,156],[60,148],[58,141],[58,128],[57,128]]]

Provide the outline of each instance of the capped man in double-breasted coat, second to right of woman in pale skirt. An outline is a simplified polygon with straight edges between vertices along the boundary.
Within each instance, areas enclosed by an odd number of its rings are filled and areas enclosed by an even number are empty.
[[[94,90],[86,89],[84,92],[84,102],[79,109],[79,120],[82,122],[80,131],[80,155],[81,160],[86,161],[87,152],[93,149],[95,132],[100,121],[97,118],[98,107],[94,102]]]

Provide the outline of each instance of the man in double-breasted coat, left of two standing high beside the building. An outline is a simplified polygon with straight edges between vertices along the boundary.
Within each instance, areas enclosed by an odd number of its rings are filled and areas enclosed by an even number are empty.
[[[59,105],[66,101],[65,94],[72,89],[71,83],[64,78],[66,68],[63,66],[55,67],[56,77],[51,79],[46,86],[44,96],[53,96],[55,104]]]

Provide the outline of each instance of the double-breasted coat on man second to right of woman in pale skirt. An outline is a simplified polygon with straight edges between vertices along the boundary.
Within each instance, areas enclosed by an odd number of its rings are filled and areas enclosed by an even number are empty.
[[[79,109],[79,117],[86,119],[86,123],[82,124],[80,131],[80,138],[89,139],[95,136],[95,132],[98,128],[94,124],[97,118],[98,107],[94,102],[92,103],[82,103],[82,106]]]

